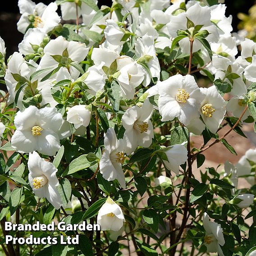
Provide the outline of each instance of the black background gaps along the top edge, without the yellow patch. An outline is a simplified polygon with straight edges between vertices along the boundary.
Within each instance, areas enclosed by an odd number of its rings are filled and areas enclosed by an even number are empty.
[[[153,0],[157,1],[157,0]],[[34,0],[35,3],[43,2],[49,5],[52,0]],[[239,12],[247,14],[248,10],[254,5],[255,0],[226,0],[227,6],[226,16],[233,16],[233,32],[237,31],[239,19],[237,14]],[[98,0],[98,6],[112,4],[112,0]],[[60,13],[59,13],[60,14]],[[6,56],[13,54],[18,50],[18,43],[23,40],[23,34],[17,31],[16,23],[19,19],[18,0],[5,0],[2,2],[0,9],[0,37],[5,41]]]

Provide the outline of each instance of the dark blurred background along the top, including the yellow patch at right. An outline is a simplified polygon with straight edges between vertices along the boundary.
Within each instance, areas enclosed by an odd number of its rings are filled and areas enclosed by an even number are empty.
[[[43,2],[49,5],[51,0],[33,0],[35,3]],[[157,1],[157,0],[152,0]],[[245,28],[248,31],[248,37],[256,39],[256,6],[249,9],[256,3],[256,0],[226,0],[226,16],[233,16],[233,32]],[[112,0],[98,0],[98,6],[112,4]],[[0,9],[0,36],[4,39],[6,45],[6,57],[18,50],[18,44],[23,40],[23,34],[17,31],[17,22],[20,14],[18,9],[18,0],[4,1]],[[240,19],[239,19],[239,18]],[[242,21],[241,21],[242,19]]]

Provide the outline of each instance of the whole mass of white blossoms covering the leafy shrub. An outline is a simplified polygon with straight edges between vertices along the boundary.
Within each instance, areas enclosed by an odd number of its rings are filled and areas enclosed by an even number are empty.
[[[8,105],[17,108],[11,146],[20,154],[29,153],[32,191],[56,209],[63,206],[57,189],[59,172],[43,158],[52,160],[75,136],[93,137],[99,159],[96,174],[99,170],[111,186],[117,180],[118,191],[123,191],[130,184],[124,165],[131,169],[128,163],[133,162],[128,161],[142,148],[149,148],[150,157],[157,155],[166,171],[177,176],[188,160],[191,152],[184,145],[189,140],[171,146],[158,143],[155,124],[176,122],[189,133],[201,135],[207,129],[215,134],[226,114],[236,119],[242,114],[245,121],[250,115],[247,102],[256,100],[255,91],[247,95],[247,88],[256,82],[256,43],[231,34],[232,17],[225,16],[224,4],[116,0],[114,9],[103,6],[96,11],[97,0],[88,2],[60,2],[59,17],[56,3],[18,0],[22,15],[17,25],[24,38],[5,70]],[[125,18],[120,20],[120,15]],[[60,24],[61,18],[78,22],[81,16],[82,25]],[[242,53],[236,58],[238,45]],[[0,38],[0,59],[4,58]],[[189,58],[189,65],[176,64],[178,58]],[[193,76],[199,71],[213,85],[199,87]],[[225,99],[224,93],[228,93]],[[4,132],[0,123],[0,135]],[[70,159],[73,156],[78,155]],[[236,166],[225,164],[225,177],[235,187],[241,176],[255,184],[251,175],[255,165],[256,151],[249,150]],[[170,178],[157,176],[155,187],[172,185]],[[253,199],[251,194],[236,195],[230,204],[246,208]],[[101,230],[119,231],[124,222],[122,209],[108,197],[97,217]],[[224,256],[220,224],[210,222],[205,213],[203,226],[207,252]]]

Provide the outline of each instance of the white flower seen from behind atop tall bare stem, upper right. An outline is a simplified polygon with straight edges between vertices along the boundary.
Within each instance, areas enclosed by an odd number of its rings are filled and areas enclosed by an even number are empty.
[[[203,25],[199,30],[207,30],[210,34],[206,37],[207,41],[217,42],[219,40],[219,33],[215,25],[210,22],[210,7],[204,6],[202,7],[199,4],[195,4],[187,9],[187,12],[180,13],[176,16],[170,16],[170,22],[166,25],[168,27],[169,33],[172,37],[177,37],[178,29],[187,30],[187,19],[192,21],[195,26]],[[192,28],[190,28],[191,30]],[[190,41],[188,37],[183,38],[178,42],[183,53],[190,52]],[[193,52],[201,49],[200,41],[195,39],[193,43]]]

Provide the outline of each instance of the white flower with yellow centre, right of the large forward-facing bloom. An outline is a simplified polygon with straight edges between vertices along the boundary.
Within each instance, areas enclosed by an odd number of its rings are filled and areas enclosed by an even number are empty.
[[[216,133],[226,113],[226,101],[215,86],[200,88],[205,95],[201,102],[201,117],[211,133]]]

